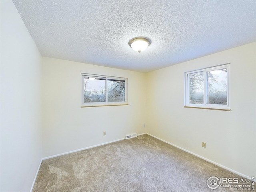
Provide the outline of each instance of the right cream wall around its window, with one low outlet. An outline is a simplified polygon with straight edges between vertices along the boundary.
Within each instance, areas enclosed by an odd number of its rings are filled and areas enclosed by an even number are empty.
[[[184,108],[184,72],[231,63],[231,110]],[[256,175],[256,42],[147,74],[147,132]],[[206,148],[202,148],[206,142]]]

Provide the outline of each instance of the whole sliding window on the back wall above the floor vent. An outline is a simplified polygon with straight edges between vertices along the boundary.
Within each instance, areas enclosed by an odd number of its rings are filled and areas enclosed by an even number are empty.
[[[82,74],[82,107],[127,105],[127,78]]]

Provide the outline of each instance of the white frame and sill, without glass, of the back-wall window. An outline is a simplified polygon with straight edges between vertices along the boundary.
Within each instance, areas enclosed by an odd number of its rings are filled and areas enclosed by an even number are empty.
[[[100,107],[100,106],[120,106],[120,105],[128,105],[128,78],[122,78],[122,77],[114,77],[114,76],[106,76],[106,75],[97,75],[97,74],[87,74],[87,73],[81,73],[82,76],[82,107]],[[95,78],[103,78],[105,79],[105,96],[106,101],[105,102],[90,102],[90,103],[84,103],[84,77],[95,77]],[[122,80],[125,82],[125,101],[124,102],[108,102],[108,79],[111,80]]]

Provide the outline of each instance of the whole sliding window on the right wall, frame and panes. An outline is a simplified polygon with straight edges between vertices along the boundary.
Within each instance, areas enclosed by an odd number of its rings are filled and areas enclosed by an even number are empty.
[[[230,64],[185,72],[185,107],[230,110]]]

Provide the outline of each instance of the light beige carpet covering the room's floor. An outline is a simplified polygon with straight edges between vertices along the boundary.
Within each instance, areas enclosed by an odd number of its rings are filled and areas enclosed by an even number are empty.
[[[44,160],[33,192],[220,192],[232,172],[148,135]]]

